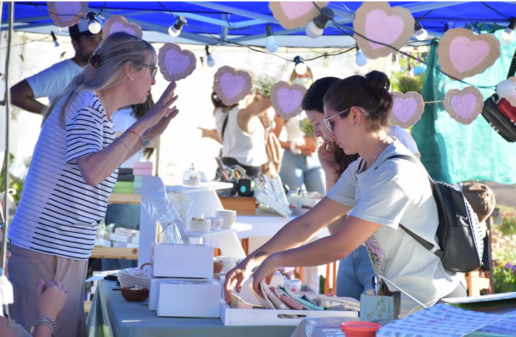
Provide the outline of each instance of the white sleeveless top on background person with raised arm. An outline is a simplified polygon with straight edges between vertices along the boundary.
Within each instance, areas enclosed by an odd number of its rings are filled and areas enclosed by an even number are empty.
[[[247,166],[261,166],[267,162],[265,152],[265,129],[259,118],[253,117],[250,121],[252,133],[245,133],[238,126],[237,116],[242,106],[235,106],[227,114],[222,109],[215,111],[215,127],[222,139],[222,156],[236,159],[240,164]],[[228,123],[224,136],[222,137],[222,127],[224,120],[228,116]]]

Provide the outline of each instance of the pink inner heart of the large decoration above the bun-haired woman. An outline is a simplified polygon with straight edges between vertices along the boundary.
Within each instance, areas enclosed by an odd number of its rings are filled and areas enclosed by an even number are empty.
[[[385,44],[393,43],[403,33],[405,23],[399,16],[388,16],[384,11],[376,9],[366,16],[366,36]],[[373,50],[383,48],[381,44],[369,42]]]

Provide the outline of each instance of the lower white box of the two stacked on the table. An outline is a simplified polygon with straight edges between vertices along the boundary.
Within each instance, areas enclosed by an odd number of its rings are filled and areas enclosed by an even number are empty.
[[[159,317],[213,317],[221,315],[221,283],[214,278],[176,278],[158,282]]]

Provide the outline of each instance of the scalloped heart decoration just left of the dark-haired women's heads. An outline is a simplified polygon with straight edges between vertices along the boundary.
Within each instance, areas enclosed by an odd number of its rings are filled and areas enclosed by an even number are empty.
[[[301,102],[307,88],[302,85],[290,85],[288,82],[277,82],[271,88],[271,103],[276,114],[285,119],[292,118],[300,114],[303,109]]]

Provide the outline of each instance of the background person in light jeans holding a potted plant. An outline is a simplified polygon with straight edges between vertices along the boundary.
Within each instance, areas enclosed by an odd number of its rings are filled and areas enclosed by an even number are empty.
[[[292,84],[309,87],[314,81],[312,70],[307,68],[303,75],[295,71],[290,75]],[[302,188],[303,184],[307,192],[319,192],[324,195],[324,172],[321,164],[317,160],[317,142],[312,135],[305,135],[300,127],[300,121],[305,118],[301,113],[288,120],[278,114],[274,116],[274,134],[280,138],[281,130],[285,128],[287,140],[280,140],[280,145],[284,149],[281,159],[281,169],[279,175],[281,181],[288,185],[290,190],[296,191]]]

